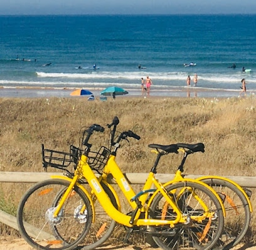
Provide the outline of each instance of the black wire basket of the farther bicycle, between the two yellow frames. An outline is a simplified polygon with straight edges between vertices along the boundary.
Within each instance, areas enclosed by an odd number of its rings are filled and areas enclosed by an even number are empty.
[[[109,159],[109,155],[109,149],[104,146],[101,146],[98,152],[90,151],[88,153],[88,164],[90,165],[90,168],[97,171],[103,169]]]

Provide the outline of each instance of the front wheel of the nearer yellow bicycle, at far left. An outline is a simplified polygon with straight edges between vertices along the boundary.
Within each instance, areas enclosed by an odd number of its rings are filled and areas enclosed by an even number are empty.
[[[57,206],[53,206],[53,202],[69,184],[61,179],[42,181],[21,199],[17,212],[19,232],[36,249],[74,249],[89,231],[92,207],[77,186],[73,187],[58,216],[53,216]]]

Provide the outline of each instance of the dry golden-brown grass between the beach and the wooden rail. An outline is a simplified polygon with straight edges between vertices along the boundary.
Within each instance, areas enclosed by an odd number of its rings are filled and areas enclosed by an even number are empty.
[[[140,141],[131,139],[119,150],[117,162],[124,172],[150,170],[154,154],[147,144],[203,142],[206,152],[189,156],[185,173],[256,175],[255,98],[117,98],[107,102],[81,98],[0,99],[0,108],[0,171],[43,171],[42,143],[46,148],[68,151],[70,144],[78,146],[82,126],[105,126],[118,116],[119,131],[131,129],[141,136]],[[93,144],[107,143],[108,138],[106,129],[103,135],[93,137]],[[163,158],[158,173],[174,173],[179,161],[177,155]],[[15,213],[27,187],[0,187],[1,199],[11,203],[8,211]],[[4,228],[0,230],[7,231]]]

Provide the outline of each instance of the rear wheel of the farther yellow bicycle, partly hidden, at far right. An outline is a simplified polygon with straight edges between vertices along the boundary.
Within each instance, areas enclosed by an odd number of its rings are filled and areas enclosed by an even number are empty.
[[[201,180],[210,185],[215,191],[224,195],[224,206],[226,217],[224,222],[223,234],[217,242],[219,249],[225,247],[230,249],[242,241],[250,225],[250,207],[248,201],[234,184],[218,178],[209,178]]]

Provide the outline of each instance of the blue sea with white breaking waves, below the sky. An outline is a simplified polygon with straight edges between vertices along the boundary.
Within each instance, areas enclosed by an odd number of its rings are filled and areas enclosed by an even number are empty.
[[[243,78],[254,95],[255,30],[253,14],[0,16],[0,97],[140,95],[146,76],[151,96],[237,97]]]

